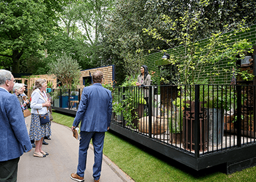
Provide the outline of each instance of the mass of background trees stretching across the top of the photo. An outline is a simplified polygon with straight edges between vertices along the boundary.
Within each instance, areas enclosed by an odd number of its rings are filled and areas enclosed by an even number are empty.
[[[3,0],[0,66],[42,74],[49,63],[67,54],[82,69],[115,64],[117,82],[122,84],[126,74],[139,71],[145,54],[169,48],[143,29],[158,29],[162,37],[180,45],[182,24],[171,30],[162,15],[175,20],[200,12],[204,18],[193,34],[200,40],[245,18],[246,25],[255,24],[255,5],[251,0]]]

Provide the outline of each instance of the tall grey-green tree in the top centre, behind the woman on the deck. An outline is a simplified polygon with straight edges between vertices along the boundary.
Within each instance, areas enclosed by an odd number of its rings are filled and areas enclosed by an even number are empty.
[[[144,27],[150,27],[152,19],[157,16],[144,9],[145,3],[146,0],[116,1],[115,9],[104,27],[101,52],[106,59],[116,65],[118,84],[124,82],[126,74],[136,76],[140,66],[145,62],[144,54],[148,54],[148,49],[152,45],[163,45],[142,31]]]

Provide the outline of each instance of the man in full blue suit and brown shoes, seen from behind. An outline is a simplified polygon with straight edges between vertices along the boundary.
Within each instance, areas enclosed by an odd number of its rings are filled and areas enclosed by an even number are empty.
[[[76,112],[76,117],[72,124],[72,131],[78,127],[80,120],[80,144],[78,167],[76,173],[70,175],[75,181],[84,181],[84,171],[86,169],[86,155],[92,139],[94,147],[94,181],[100,181],[102,166],[103,144],[105,132],[110,127],[112,115],[112,95],[110,90],[104,88],[103,74],[96,71],[92,74],[92,86],[87,86],[82,90],[82,97]]]

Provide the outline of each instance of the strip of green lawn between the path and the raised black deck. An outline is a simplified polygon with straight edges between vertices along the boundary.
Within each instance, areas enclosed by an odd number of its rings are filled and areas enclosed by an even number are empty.
[[[74,117],[53,112],[54,122],[71,127]],[[134,181],[256,181],[256,167],[225,175],[220,166],[195,171],[147,147],[106,132],[104,155],[108,156]],[[243,155],[241,153],[241,155]]]

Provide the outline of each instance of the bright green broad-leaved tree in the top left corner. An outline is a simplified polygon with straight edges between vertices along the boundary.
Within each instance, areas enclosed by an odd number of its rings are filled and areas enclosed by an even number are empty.
[[[0,56],[11,58],[13,72],[19,72],[23,54],[24,58],[39,56],[38,51],[44,45],[43,37],[53,33],[55,13],[61,10],[59,5],[59,1],[41,0],[0,2]]]

